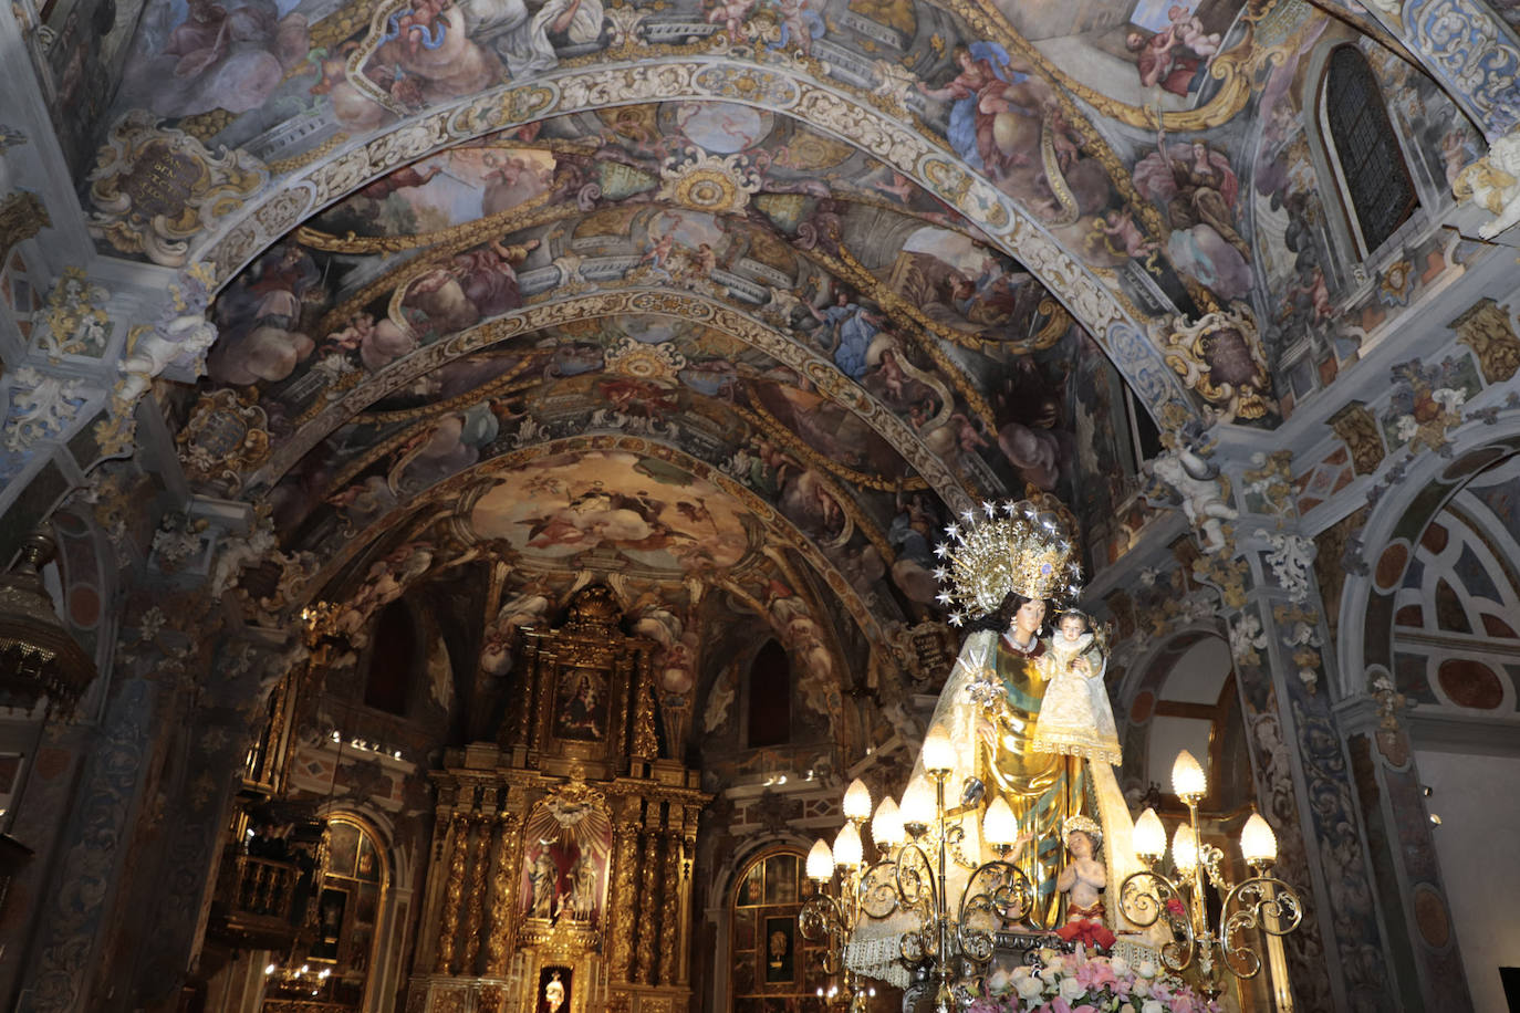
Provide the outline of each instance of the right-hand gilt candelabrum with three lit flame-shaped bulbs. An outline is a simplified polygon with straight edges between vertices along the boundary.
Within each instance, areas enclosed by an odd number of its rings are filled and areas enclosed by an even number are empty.
[[[1198,832],[1198,800],[1207,790],[1204,768],[1186,749],[1172,767],[1172,788],[1187,805],[1187,822],[1180,823],[1172,837],[1175,879],[1157,872],[1166,850],[1166,829],[1155,809],[1148,808],[1135,820],[1135,854],[1146,866],[1125,878],[1119,888],[1119,907],[1137,928],[1161,922],[1170,936],[1161,945],[1161,963],[1181,974],[1193,960],[1202,989],[1214,998],[1222,990],[1221,967],[1237,978],[1254,978],[1262,970],[1262,955],[1249,945],[1252,931],[1260,929],[1268,940],[1274,992],[1278,1008],[1290,1004],[1286,987],[1286,964],[1277,939],[1298,928],[1303,901],[1294,888],[1272,876],[1277,838],[1259,814],[1251,814],[1240,832],[1240,854],[1252,873],[1240,882],[1230,882],[1221,870],[1224,852],[1204,844]],[[1218,923],[1208,917],[1204,882],[1224,898]]]

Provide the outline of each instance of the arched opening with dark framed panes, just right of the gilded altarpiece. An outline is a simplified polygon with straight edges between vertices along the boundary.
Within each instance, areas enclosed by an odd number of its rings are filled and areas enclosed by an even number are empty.
[[[768,850],[740,873],[730,908],[734,1013],[807,1008],[825,984],[822,951],[796,923],[812,892],[790,849]]]

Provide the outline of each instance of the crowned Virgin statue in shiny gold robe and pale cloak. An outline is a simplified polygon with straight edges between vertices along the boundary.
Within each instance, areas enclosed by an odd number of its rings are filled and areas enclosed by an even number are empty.
[[[973,864],[1000,857],[982,840],[982,817],[1002,797],[1018,820],[1020,843],[1012,861],[1034,887],[1024,920],[1034,929],[1055,929],[1064,920],[1056,882],[1067,861],[1066,820],[1087,816],[1102,826],[1110,898],[1117,898],[1119,884],[1138,869],[1134,823],[1111,765],[1117,758],[1111,715],[1094,723],[1091,741],[1067,729],[1059,752],[1035,746],[1052,674],[1050,665],[1041,664],[1052,649],[1040,633],[1049,603],[1070,603],[1081,592],[1081,570],[1066,522],[1029,501],[988,507],[986,513],[980,522],[967,515],[964,529],[950,525],[952,541],[936,550],[942,560],[936,576],[947,585],[939,601],[953,609],[952,624],[970,620],[971,629],[930,727],[942,727],[956,752],[945,779],[945,808],[947,826],[961,826],[961,852]],[[1107,712],[1107,699],[1104,703]],[[920,758],[914,776],[923,773]],[[952,911],[968,873],[952,863]],[[1110,920],[1116,929],[1128,928],[1117,911]],[[895,940],[909,928],[901,914],[862,925],[847,961],[860,974],[906,984]]]

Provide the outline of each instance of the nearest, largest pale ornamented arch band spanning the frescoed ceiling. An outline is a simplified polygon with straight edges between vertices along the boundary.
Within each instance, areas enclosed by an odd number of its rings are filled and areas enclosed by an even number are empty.
[[[641,102],[734,102],[790,115],[853,144],[959,210],[1066,305],[1167,428],[1196,418],[1193,398],[1149,337],[1151,331],[1166,328],[1169,319],[1145,317],[1113,276],[1079,263],[1014,197],[970,172],[915,126],[793,65],[746,65],[737,64],[737,56],[646,56],[559,70],[532,84],[496,88],[442,106],[286,176],[208,231],[192,261],[205,264],[214,284],[225,284],[322,207],[386,172],[485,134]]]

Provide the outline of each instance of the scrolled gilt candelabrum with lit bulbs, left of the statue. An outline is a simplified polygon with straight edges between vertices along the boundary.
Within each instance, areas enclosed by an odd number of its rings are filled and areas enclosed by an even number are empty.
[[[845,793],[845,826],[830,850],[822,840],[807,857],[807,875],[819,884],[819,895],[803,908],[803,934],[828,940],[830,974],[844,967],[851,1008],[863,1004],[853,984],[844,949],[862,917],[907,916],[898,952],[909,967],[927,966],[938,980],[936,1008],[945,1013],[971,1001],[970,983],[993,958],[997,933],[1032,931],[1028,914],[1034,887],[1012,854],[1020,843],[1018,822],[1003,799],[996,799],[982,820],[982,838],[1000,855],[986,863],[970,861],[962,852],[964,831],[945,809],[945,781],[955,768],[955,747],[942,727],[924,740],[924,775],[914,778],[903,793],[903,803],[882,799],[871,817],[871,837],[877,861],[863,863],[860,825],[871,813],[871,793],[856,781]],[[932,782],[932,788],[930,788]],[[980,797],[979,785],[968,781],[970,799]],[[953,817],[952,817],[953,819]],[[959,904],[950,907],[950,863],[968,870]],[[841,870],[838,899],[824,893],[834,867]],[[958,875],[959,875],[958,870]],[[851,989],[856,989],[851,992]]]

